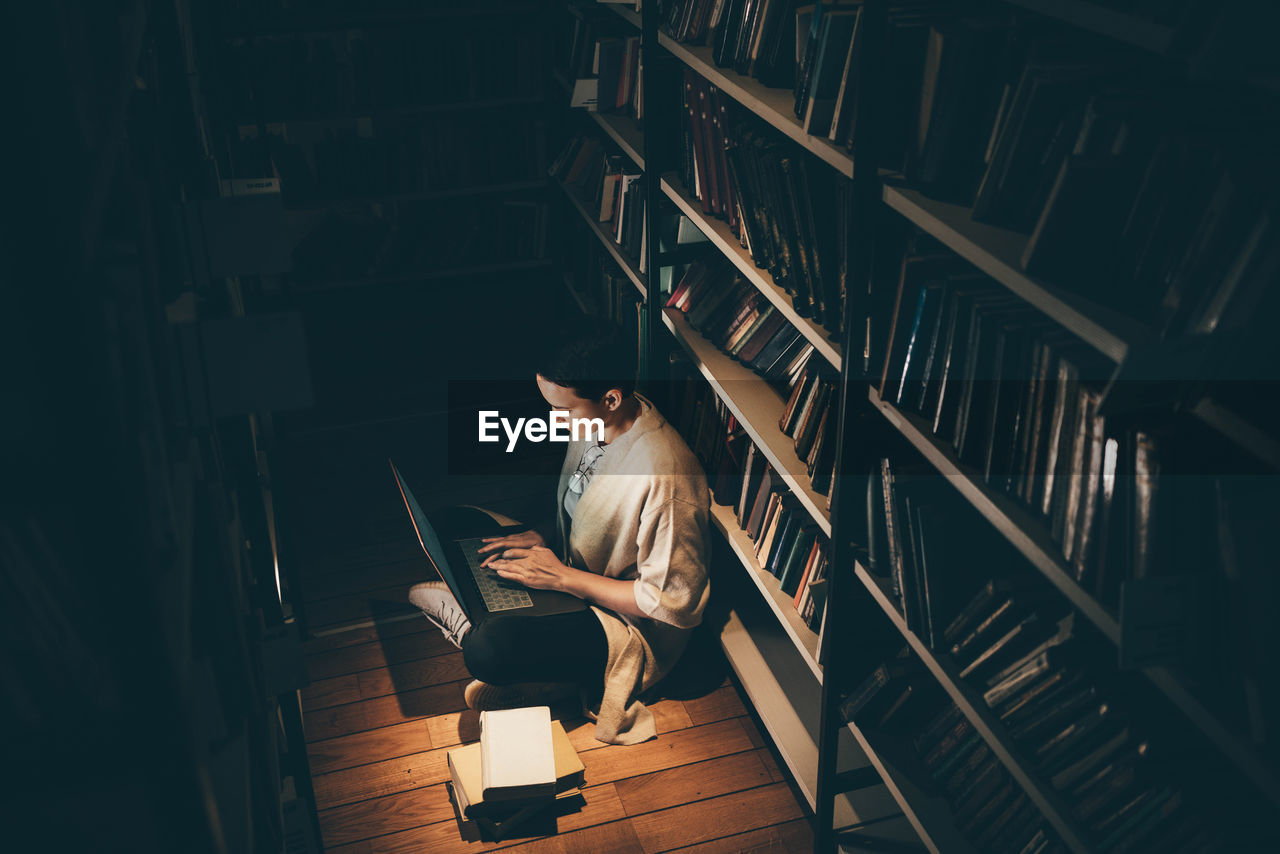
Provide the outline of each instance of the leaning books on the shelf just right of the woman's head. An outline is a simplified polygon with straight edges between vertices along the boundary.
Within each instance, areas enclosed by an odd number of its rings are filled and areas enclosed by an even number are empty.
[[[794,380],[814,350],[718,252],[689,265],[667,307],[678,309],[704,338],[771,382]]]

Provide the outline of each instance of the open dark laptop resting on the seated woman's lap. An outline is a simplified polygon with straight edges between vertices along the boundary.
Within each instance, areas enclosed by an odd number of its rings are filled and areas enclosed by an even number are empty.
[[[467,531],[468,536],[463,539],[442,540],[426,520],[426,513],[422,512],[417,498],[410,492],[396,463],[390,465],[392,474],[396,475],[396,484],[401,490],[401,498],[404,499],[404,507],[413,522],[417,542],[426,552],[426,560],[435,567],[440,579],[449,585],[449,590],[462,606],[471,625],[479,625],[480,621],[492,615],[509,613],[541,617],[586,609],[586,603],[575,595],[557,590],[534,590],[502,577],[495,570],[480,566],[480,562],[489,557],[479,552],[480,547],[484,545],[485,536],[527,530],[524,526],[503,528],[490,519],[492,528],[485,526],[488,530],[471,530]]]

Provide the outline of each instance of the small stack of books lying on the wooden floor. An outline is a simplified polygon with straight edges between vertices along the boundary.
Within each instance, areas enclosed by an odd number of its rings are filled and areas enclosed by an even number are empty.
[[[474,823],[500,841],[553,804],[582,802],[586,769],[545,705],[481,712],[480,741],[447,759],[463,834]]]

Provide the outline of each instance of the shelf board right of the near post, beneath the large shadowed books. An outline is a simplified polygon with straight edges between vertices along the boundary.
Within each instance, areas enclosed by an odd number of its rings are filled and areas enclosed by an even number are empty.
[[[1130,347],[1151,338],[1134,320],[1027,275],[1021,269],[1028,241],[1025,234],[975,223],[969,215],[970,209],[932,200],[906,187],[886,183],[883,198],[890,207],[1111,361],[1124,361]]]

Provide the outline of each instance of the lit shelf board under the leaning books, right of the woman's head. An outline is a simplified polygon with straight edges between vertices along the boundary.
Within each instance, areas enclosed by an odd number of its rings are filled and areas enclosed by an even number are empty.
[[[703,338],[678,310],[663,309],[662,320],[769,465],[829,538],[831,511],[827,510],[827,497],[814,492],[804,462],[796,457],[795,442],[778,429],[786,401],[750,367],[733,361]]]

